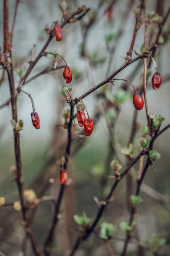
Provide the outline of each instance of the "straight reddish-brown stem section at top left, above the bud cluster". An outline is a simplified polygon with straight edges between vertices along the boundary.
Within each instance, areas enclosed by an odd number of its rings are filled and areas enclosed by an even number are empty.
[[[8,45],[8,0],[3,1],[4,4],[4,19],[3,19],[3,33],[4,33],[4,53],[8,53],[9,45]]]

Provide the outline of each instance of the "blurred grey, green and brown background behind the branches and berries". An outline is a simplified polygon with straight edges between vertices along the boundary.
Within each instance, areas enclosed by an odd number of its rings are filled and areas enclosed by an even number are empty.
[[[160,3],[161,2],[161,3]],[[56,52],[63,56],[73,73],[73,79],[69,88],[72,88],[73,97],[79,97],[88,89],[105,80],[124,63],[122,57],[129,50],[135,15],[133,10],[139,4],[135,0],[99,1],[99,0],[24,0],[18,8],[16,25],[13,38],[13,61],[15,65],[15,85],[19,84],[20,77],[28,68],[31,59],[33,45],[35,46],[34,57],[46,42],[48,35],[45,27],[51,26],[53,21],[61,21],[62,12],[58,4],[68,4],[70,12],[78,6],[87,5],[91,10],[81,21],[67,24],[63,32],[63,40],[51,41],[47,48],[49,52]],[[112,13],[108,14],[108,6],[112,4]],[[165,16],[170,2],[168,0],[148,0],[147,12],[155,11],[160,16]],[[9,25],[15,9],[15,1],[9,1]],[[109,16],[110,15],[110,16]],[[90,26],[88,27],[88,25]],[[87,29],[88,27],[88,29]],[[158,31],[156,22],[149,25],[150,37],[148,42],[152,45],[155,33]],[[152,34],[153,33],[153,34]],[[143,42],[144,26],[138,30],[134,49],[140,52]],[[162,42],[161,42],[162,40]],[[160,38],[160,45],[155,55],[158,70],[162,75],[162,85],[159,90],[153,90],[151,77],[148,79],[147,97],[150,114],[157,113],[165,117],[162,128],[169,124],[170,120],[170,76],[169,76],[169,19],[165,24],[164,35]],[[3,4],[0,4],[0,45],[3,46]],[[122,56],[122,57],[121,57]],[[135,54],[132,54],[135,57]],[[54,59],[42,57],[31,72],[27,80],[48,66],[54,65]],[[64,65],[61,58],[57,58],[57,66]],[[0,70],[0,75],[2,75]],[[141,74],[143,66],[141,62],[135,62],[126,67],[116,77],[129,79],[135,88],[140,90]],[[151,74],[155,72],[151,66]],[[26,80],[26,81],[27,81]],[[36,130],[31,122],[32,106],[29,97],[20,93],[18,97],[18,118],[23,120],[24,127],[21,131],[21,156],[24,174],[25,189],[33,188],[37,195],[57,196],[58,173],[60,160],[65,152],[67,130],[62,126],[64,119],[62,113],[69,108],[65,98],[59,93],[61,87],[66,85],[63,79],[63,69],[58,69],[38,76],[23,86],[23,90],[31,94],[36,111],[40,118],[40,129]],[[134,106],[132,101],[133,88],[126,82],[115,81],[114,87],[106,85],[84,98],[88,113],[95,120],[94,130],[90,137],[83,136],[82,128],[75,127],[73,131],[73,143],[71,157],[69,159],[69,180],[61,208],[61,220],[57,226],[56,238],[52,255],[67,255],[72,248],[78,234],[78,226],[73,220],[73,215],[82,215],[94,218],[97,212],[97,204],[94,196],[103,199],[113,179],[105,179],[103,175],[112,175],[110,162],[118,159],[123,167],[126,157],[121,153],[121,148],[128,146],[131,133]],[[109,92],[105,103],[106,90]],[[119,96],[122,95],[123,99]],[[10,98],[7,76],[0,85],[0,105]],[[109,115],[111,111],[111,119]],[[75,110],[76,113],[76,110]],[[109,117],[108,117],[109,116]],[[15,165],[13,130],[10,125],[11,105],[0,109],[0,197],[5,197],[6,203],[18,200],[18,190],[13,175],[9,168]],[[77,121],[75,120],[77,123]],[[134,155],[140,152],[137,139],[142,131],[139,124],[146,123],[146,113],[143,108],[137,113],[139,129],[134,137],[136,148]],[[113,129],[112,129],[113,128]],[[111,135],[111,136],[110,136]],[[149,243],[153,233],[167,239],[167,244],[159,248],[158,255],[169,255],[170,251],[170,175],[169,175],[169,152],[170,152],[170,129],[164,132],[155,142],[154,149],[161,154],[161,158],[155,162],[155,169],[149,168],[145,178],[146,186],[143,187],[141,197],[143,202],[138,207],[137,225],[140,240]],[[114,150],[111,145],[114,144]],[[107,170],[106,170],[107,168]],[[135,188],[136,171],[138,164],[132,170]],[[104,182],[103,182],[104,180]],[[162,203],[157,202],[149,193],[151,187],[165,199]],[[135,190],[134,190],[135,191]],[[156,192],[155,192],[156,193]],[[155,194],[154,194],[155,195]],[[162,197],[165,195],[165,197]],[[36,211],[32,223],[39,244],[43,244],[47,229],[51,222],[53,205],[49,201],[42,202]],[[20,211],[15,211],[12,206],[0,208],[0,250],[6,255],[33,255],[30,244],[26,239],[23,242],[23,229],[19,223]],[[126,207],[126,182],[122,180],[118,185],[114,202],[110,203],[102,217],[102,221],[114,223],[117,227],[116,235],[124,237],[119,223],[128,221],[129,212]],[[100,226],[100,225],[99,225]],[[98,227],[99,227],[98,226]],[[58,234],[58,235],[57,235]],[[123,242],[111,241],[114,252],[119,255]],[[20,254],[25,252],[24,254]],[[105,243],[92,234],[88,241],[84,242],[77,251],[77,256],[84,255],[110,255]],[[136,245],[128,247],[127,255],[138,255]],[[149,250],[141,255],[152,255]]]

